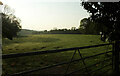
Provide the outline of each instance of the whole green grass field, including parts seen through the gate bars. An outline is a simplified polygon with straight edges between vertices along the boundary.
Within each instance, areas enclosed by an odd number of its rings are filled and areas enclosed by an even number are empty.
[[[30,51],[45,51],[51,49],[62,49],[72,47],[82,47],[89,45],[102,44],[100,36],[98,35],[79,35],[79,34],[40,34],[29,35],[26,37],[15,38],[14,40],[3,39],[3,54],[21,53]],[[95,55],[97,53],[105,52],[111,49],[108,46],[90,48],[80,50],[83,57]],[[3,60],[3,75],[13,74],[23,70],[28,70],[36,67],[43,67],[56,64],[63,61],[70,61],[74,51],[60,52],[54,54],[20,57]],[[78,53],[74,59],[80,58]],[[99,62],[105,59],[105,55],[101,55],[92,59],[85,60],[87,65]],[[96,65],[98,68],[103,64]],[[33,74],[63,74],[67,65],[58,66],[56,68],[47,69],[48,71],[38,71]],[[83,67],[82,62],[72,63],[70,70],[75,70]]]

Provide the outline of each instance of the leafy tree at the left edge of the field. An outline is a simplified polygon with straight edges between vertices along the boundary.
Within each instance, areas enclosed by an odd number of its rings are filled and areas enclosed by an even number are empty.
[[[13,14],[8,5],[5,5],[2,13],[2,36],[12,40],[20,29],[20,19]]]

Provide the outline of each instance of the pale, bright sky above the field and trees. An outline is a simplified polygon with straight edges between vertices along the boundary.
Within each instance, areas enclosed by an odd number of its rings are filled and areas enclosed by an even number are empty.
[[[80,0],[1,0],[15,10],[23,29],[51,30],[79,27],[89,14]]]

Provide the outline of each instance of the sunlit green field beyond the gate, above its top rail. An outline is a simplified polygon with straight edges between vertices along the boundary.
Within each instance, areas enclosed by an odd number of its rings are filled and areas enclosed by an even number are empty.
[[[103,43],[98,35],[79,34],[41,34],[19,37],[14,40],[3,39],[3,53],[17,53],[81,47]]]

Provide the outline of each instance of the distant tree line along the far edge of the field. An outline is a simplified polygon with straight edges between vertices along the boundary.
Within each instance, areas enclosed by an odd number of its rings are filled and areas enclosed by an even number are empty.
[[[33,34],[91,34],[98,35],[100,33],[100,27],[97,27],[98,23],[91,22],[88,18],[84,18],[80,21],[78,28],[71,27],[71,29],[57,29],[54,28],[50,31],[44,30],[40,32],[33,32]]]

